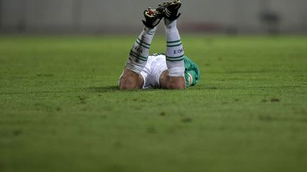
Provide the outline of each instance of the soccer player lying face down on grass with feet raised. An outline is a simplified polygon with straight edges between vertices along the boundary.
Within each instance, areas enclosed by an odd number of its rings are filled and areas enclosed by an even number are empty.
[[[200,70],[185,57],[176,20],[181,1],[159,4],[158,8],[144,11],[144,30],[132,47],[126,67],[119,79],[120,89],[168,88],[183,89],[194,86],[200,79]],[[164,18],[166,54],[149,56],[156,25]]]

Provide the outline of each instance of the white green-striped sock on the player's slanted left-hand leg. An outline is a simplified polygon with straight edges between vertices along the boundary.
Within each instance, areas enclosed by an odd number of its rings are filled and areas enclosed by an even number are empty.
[[[155,33],[156,28],[144,28],[130,51],[129,59],[126,61],[126,69],[134,71],[136,74],[141,73],[146,65],[149,47]]]

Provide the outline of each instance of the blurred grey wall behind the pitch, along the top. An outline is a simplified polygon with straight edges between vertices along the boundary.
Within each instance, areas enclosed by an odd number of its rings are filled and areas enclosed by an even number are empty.
[[[0,0],[0,33],[134,33],[153,0]],[[182,0],[190,33],[307,33],[306,0]]]

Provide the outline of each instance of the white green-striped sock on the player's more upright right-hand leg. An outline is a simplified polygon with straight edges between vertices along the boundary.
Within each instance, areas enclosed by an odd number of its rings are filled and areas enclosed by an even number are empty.
[[[177,29],[177,21],[164,19],[166,29],[166,65],[169,76],[184,76],[184,50]]]

